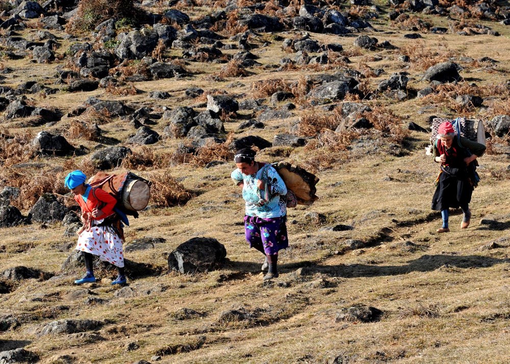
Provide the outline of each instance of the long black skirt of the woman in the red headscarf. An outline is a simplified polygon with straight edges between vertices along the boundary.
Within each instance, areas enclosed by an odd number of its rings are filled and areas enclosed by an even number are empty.
[[[455,176],[443,172],[439,176],[439,183],[432,197],[432,210],[442,211],[467,206],[471,202],[472,194],[473,186],[465,174]]]

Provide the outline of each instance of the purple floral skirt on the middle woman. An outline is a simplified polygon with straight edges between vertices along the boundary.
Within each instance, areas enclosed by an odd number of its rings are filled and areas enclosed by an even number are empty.
[[[244,233],[250,248],[261,251],[263,249],[269,255],[277,254],[278,250],[288,248],[286,222],[286,216],[263,219],[246,215],[244,217]]]

